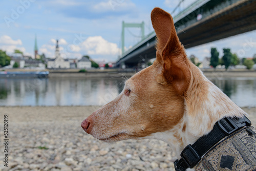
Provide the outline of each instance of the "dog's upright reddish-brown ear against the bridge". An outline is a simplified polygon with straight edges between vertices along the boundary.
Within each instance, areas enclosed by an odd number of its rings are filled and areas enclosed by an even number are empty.
[[[189,59],[177,36],[173,17],[160,8],[151,12],[153,28],[157,35],[157,61],[168,84],[173,84],[183,95],[190,80]]]

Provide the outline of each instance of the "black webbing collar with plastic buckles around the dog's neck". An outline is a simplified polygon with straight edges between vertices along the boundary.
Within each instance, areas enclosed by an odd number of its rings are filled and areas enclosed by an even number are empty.
[[[180,154],[181,159],[177,159],[174,162],[175,170],[183,171],[188,167],[195,167],[202,156],[221,139],[237,132],[244,126],[250,125],[250,120],[245,116],[243,118],[225,117],[219,120],[209,134],[199,138],[194,144],[189,144],[183,149]]]

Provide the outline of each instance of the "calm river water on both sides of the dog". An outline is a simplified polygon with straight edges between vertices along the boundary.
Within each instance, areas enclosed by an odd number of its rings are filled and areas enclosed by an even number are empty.
[[[256,78],[210,78],[240,107],[256,106]],[[103,105],[123,89],[123,78],[0,79],[2,106]]]

